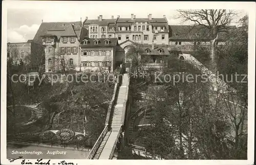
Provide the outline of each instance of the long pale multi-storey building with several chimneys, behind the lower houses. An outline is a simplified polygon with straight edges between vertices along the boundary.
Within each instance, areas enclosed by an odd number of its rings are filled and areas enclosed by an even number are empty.
[[[165,15],[162,18],[153,18],[149,14],[146,18],[136,18],[131,14],[130,18],[103,19],[102,15],[98,19],[88,19],[83,21],[83,27],[89,32],[90,38],[117,38],[118,42],[130,39],[137,43],[168,44],[168,21]]]

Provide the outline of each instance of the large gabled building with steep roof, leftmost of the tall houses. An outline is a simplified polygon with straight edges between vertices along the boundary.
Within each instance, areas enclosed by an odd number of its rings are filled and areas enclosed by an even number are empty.
[[[43,22],[34,40],[44,45],[46,72],[79,70],[81,22]]]

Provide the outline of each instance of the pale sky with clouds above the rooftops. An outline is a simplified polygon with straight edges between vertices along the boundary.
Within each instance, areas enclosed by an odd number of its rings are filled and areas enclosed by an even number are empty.
[[[6,2],[5,2],[6,3]],[[166,15],[169,25],[180,25],[181,20],[175,19],[176,9],[195,5],[193,2],[56,2],[56,1],[10,1],[7,9],[7,42],[26,42],[33,39],[42,20],[44,22],[57,21],[82,21],[97,19],[102,15],[103,19],[130,18],[133,13],[136,18],[147,17],[152,14],[154,18]],[[193,3],[193,4],[192,4]],[[224,7],[227,3],[224,3]],[[238,20],[245,14],[244,11],[236,18]],[[185,23],[189,24],[189,22]]]

